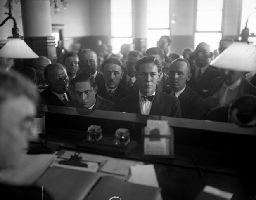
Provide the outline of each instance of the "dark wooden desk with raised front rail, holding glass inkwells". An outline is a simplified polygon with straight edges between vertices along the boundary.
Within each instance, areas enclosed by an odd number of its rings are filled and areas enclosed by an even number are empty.
[[[126,156],[101,152],[154,163],[163,198],[193,200],[206,185],[234,193],[232,199],[248,199],[254,194],[254,145],[256,128],[233,124],[139,115],[111,111],[87,110],[58,106],[41,106],[45,115],[45,139],[58,142],[62,148],[77,149],[90,125],[100,125],[103,134],[114,135],[118,128],[128,128],[131,139],[140,143],[140,132],[147,119],[168,120],[175,134],[174,159],[145,159],[138,147]],[[191,154],[204,175],[199,176]]]

